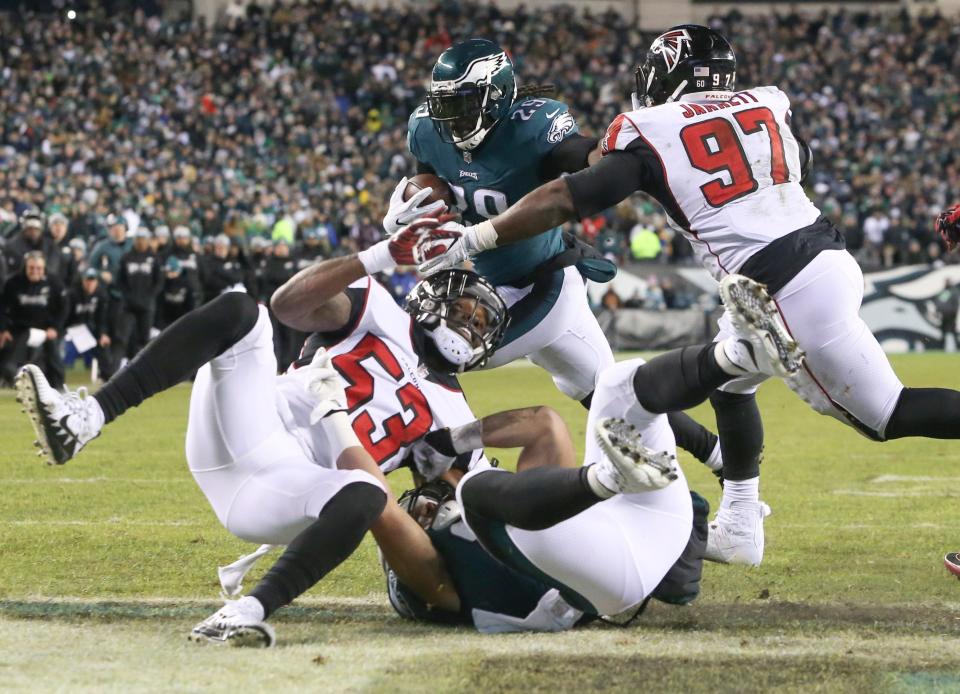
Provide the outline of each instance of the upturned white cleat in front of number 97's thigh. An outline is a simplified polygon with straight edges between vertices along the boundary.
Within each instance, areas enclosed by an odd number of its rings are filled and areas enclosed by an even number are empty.
[[[743,275],[727,275],[720,282],[720,296],[737,333],[749,337],[763,352],[750,355],[757,371],[789,378],[803,368],[803,350],[790,335],[776,303],[762,284]],[[727,354],[731,355],[731,351]],[[737,365],[749,370],[747,364]]]

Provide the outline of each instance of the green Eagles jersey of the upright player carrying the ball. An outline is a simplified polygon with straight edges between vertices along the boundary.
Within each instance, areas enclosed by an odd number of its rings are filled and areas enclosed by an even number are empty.
[[[558,143],[579,132],[565,104],[526,99],[487,136],[463,152],[444,142],[423,104],[410,116],[407,146],[417,161],[431,166],[457,196],[467,224],[502,214],[544,183],[540,164]],[[510,284],[529,275],[563,250],[559,227],[531,239],[484,251],[474,258],[477,272],[493,284]]]

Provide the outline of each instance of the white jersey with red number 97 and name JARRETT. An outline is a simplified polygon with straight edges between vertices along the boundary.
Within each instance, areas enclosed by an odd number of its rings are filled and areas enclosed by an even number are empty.
[[[617,116],[601,148],[656,155],[663,180],[648,192],[720,280],[771,241],[813,224],[820,211],[800,186],[786,94],[756,87],[685,98]]]

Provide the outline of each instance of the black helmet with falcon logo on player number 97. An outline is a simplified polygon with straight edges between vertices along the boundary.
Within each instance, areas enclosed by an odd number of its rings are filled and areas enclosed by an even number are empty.
[[[650,44],[637,67],[633,107],[676,101],[683,94],[733,91],[737,57],[723,35],[699,24],[680,24]]]

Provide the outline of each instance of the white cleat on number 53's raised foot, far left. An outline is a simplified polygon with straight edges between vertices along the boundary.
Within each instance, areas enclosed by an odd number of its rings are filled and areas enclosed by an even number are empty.
[[[17,374],[17,401],[37,434],[34,445],[50,465],[63,465],[81,448],[100,435],[103,410],[87,397],[86,388],[61,393],[55,390],[38,367],[27,364]]]

